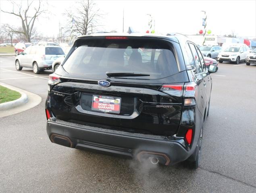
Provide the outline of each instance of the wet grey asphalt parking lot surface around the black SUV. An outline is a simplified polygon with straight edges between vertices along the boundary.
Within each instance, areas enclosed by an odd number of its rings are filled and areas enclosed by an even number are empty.
[[[0,81],[42,97],[0,119],[0,192],[256,192],[256,65],[223,63],[212,74],[200,168],[139,164],[52,144],[44,102],[50,70],[15,70],[0,57]]]

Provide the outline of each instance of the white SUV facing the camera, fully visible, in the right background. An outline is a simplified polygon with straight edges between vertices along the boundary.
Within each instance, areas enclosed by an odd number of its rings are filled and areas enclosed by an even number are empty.
[[[250,53],[250,48],[247,45],[231,45],[219,53],[218,61],[219,63],[226,61],[239,64],[240,61],[246,60],[248,53]]]

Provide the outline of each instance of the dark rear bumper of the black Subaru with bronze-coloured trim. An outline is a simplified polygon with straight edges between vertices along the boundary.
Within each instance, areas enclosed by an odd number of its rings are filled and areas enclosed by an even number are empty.
[[[91,127],[65,121],[47,121],[47,133],[53,143],[127,158],[156,156],[165,165],[186,160],[191,151],[183,140],[166,140],[163,136],[128,133],[112,129]]]

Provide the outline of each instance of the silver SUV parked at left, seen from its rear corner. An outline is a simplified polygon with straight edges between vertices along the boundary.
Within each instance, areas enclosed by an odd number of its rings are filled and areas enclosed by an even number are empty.
[[[61,47],[55,45],[31,45],[15,58],[16,70],[32,68],[35,74],[52,69],[52,62],[65,55]]]

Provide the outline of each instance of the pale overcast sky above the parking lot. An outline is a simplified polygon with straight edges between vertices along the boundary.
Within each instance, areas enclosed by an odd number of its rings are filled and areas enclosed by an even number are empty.
[[[19,2],[19,1],[17,1]],[[44,0],[43,0],[44,2]],[[104,13],[100,31],[123,31],[123,9],[125,12],[125,31],[131,26],[136,31],[145,32],[148,28],[147,14],[155,20],[156,33],[179,32],[186,35],[196,34],[203,29],[202,12],[207,14],[207,28],[214,35],[229,35],[232,31],[240,37],[256,37],[256,0],[94,0],[96,6]],[[58,25],[67,23],[62,16],[65,9],[74,5],[69,0],[48,0],[46,8],[48,18],[39,18],[37,30],[44,36],[58,35]],[[11,10],[10,3],[0,0],[2,10]],[[0,13],[0,23],[21,25],[19,18]],[[71,21],[70,21],[71,26]]]

